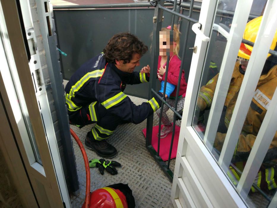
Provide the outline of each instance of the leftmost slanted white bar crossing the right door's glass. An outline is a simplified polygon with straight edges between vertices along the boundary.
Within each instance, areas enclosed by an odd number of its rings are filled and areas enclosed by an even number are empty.
[[[237,7],[235,9],[235,16],[222,59],[219,78],[216,84],[213,102],[210,108],[210,114],[206,126],[206,132],[203,139],[204,143],[210,151],[213,149],[213,143],[216,137],[221,112],[228,92],[228,87],[226,85],[230,83],[232,78],[235,61],[238,56],[238,50],[240,48],[241,39],[243,37],[243,32],[248,20],[252,2],[253,0],[238,0]]]

